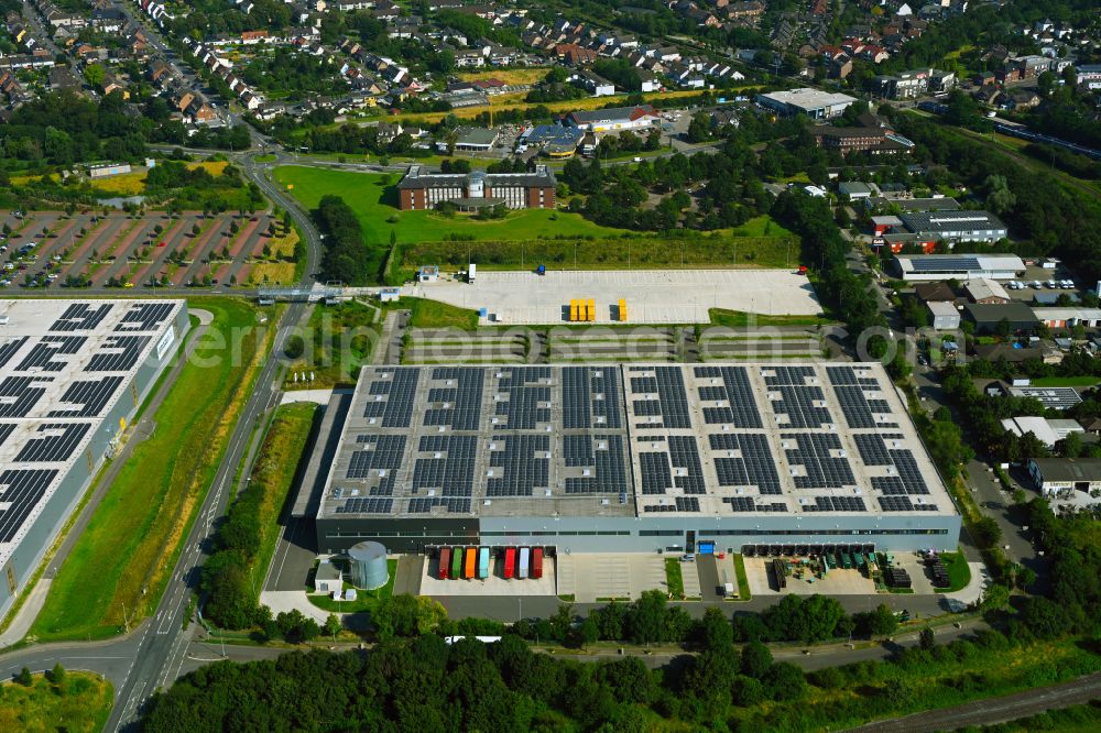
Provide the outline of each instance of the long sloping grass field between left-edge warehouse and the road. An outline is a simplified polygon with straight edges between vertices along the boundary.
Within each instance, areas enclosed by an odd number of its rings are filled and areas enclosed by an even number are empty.
[[[193,298],[189,305],[214,314],[210,333],[151,416],[153,435],[134,447],[65,558],[31,628],[41,641],[118,634],[123,604],[131,624],[151,613],[210,488],[274,329],[261,344],[255,310],[243,300]],[[227,346],[233,329],[236,364]]]

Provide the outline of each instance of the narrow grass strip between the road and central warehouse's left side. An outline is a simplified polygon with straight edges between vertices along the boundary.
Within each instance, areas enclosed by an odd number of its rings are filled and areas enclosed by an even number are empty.
[[[263,588],[268,566],[275,554],[282,527],[277,519],[294,483],[298,466],[305,458],[306,441],[319,405],[308,402],[283,405],[275,412],[257,462],[252,464],[251,484],[264,485],[260,504],[260,551],[249,569],[253,588]]]

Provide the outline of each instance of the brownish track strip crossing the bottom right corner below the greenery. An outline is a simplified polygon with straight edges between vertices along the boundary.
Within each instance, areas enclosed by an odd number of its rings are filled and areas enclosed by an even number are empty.
[[[1099,698],[1101,698],[1101,674],[1093,674],[1062,685],[1039,687],[1003,698],[978,700],[955,708],[869,723],[852,730],[860,733],[922,733],[957,730],[969,725],[992,725],[1035,715],[1045,710],[1083,704]]]

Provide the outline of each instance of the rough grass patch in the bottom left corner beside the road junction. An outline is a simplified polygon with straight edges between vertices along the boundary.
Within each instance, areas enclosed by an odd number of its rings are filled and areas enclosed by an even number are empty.
[[[98,733],[111,713],[115,691],[99,675],[66,671],[54,685],[45,675],[34,675],[30,687],[0,685],[0,731],[46,733],[72,731]]]

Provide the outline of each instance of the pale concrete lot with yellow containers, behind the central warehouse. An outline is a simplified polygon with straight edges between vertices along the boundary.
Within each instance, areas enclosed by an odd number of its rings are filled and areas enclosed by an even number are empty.
[[[708,322],[710,308],[776,316],[821,311],[810,283],[792,270],[479,272],[475,283],[419,283],[402,294],[486,308],[484,322],[501,324],[567,322],[575,298],[595,302],[597,324],[619,322],[621,298],[629,324]]]

